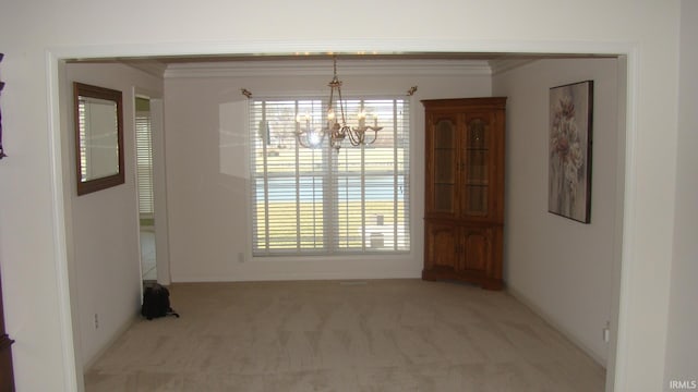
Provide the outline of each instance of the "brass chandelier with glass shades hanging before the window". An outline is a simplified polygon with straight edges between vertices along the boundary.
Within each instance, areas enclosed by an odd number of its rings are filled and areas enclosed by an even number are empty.
[[[298,123],[296,131],[296,139],[298,144],[305,148],[316,148],[323,144],[325,137],[329,138],[329,147],[339,151],[341,143],[349,139],[352,146],[371,145],[378,137],[378,131],[383,126],[378,126],[378,119],[374,117],[373,126],[366,125],[366,113],[361,109],[357,114],[359,120],[358,126],[349,126],[346,118],[347,102],[341,98],[341,81],[337,77],[337,57],[333,57],[334,77],[327,84],[329,86],[329,102],[327,107],[327,123],[323,128],[314,128],[311,126],[309,114],[297,115]],[[302,127],[303,121],[305,127]],[[373,132],[373,134],[371,134]],[[368,134],[368,136],[366,136]]]

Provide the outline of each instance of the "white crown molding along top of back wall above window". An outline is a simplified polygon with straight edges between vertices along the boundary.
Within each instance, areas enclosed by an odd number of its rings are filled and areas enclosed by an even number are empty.
[[[229,61],[170,63],[165,78],[183,77],[261,77],[261,76],[328,76],[332,61]],[[397,76],[397,75],[491,75],[486,60],[341,60],[337,61],[341,76]]]

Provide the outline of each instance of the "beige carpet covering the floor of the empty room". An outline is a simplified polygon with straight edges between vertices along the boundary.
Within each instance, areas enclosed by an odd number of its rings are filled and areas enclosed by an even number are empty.
[[[603,391],[605,371],[504,292],[420,280],[174,284],[86,391]]]

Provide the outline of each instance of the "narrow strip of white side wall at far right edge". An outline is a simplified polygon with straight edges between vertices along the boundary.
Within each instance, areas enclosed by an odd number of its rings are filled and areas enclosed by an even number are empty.
[[[674,257],[666,343],[664,391],[671,381],[698,382],[698,2],[683,1],[681,10],[681,87]]]

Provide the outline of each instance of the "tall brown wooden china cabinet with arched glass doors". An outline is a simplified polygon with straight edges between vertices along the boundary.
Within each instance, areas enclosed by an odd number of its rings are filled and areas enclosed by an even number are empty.
[[[501,290],[506,98],[423,100],[424,280]]]

